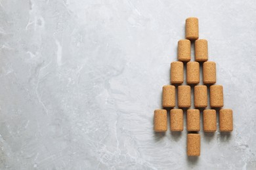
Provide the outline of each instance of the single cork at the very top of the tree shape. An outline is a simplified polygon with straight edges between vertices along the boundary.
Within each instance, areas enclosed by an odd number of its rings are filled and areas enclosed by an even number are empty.
[[[198,18],[186,18],[186,39],[196,40],[198,37]]]

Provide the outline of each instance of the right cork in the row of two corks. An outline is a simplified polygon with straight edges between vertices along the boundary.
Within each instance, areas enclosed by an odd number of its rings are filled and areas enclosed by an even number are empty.
[[[198,39],[195,42],[195,60],[207,61],[208,60],[208,44],[205,39]]]

